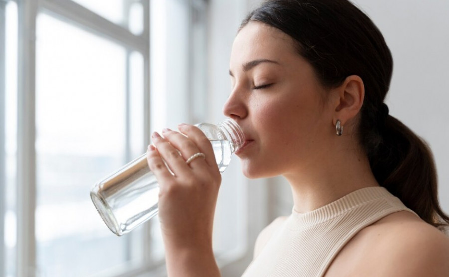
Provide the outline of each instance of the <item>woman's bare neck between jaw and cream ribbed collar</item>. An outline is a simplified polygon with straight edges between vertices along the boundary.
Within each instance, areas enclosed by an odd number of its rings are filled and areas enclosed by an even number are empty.
[[[344,155],[323,152],[306,167],[284,174],[291,185],[295,211],[309,212],[355,190],[379,186],[366,155],[354,147],[335,152]]]

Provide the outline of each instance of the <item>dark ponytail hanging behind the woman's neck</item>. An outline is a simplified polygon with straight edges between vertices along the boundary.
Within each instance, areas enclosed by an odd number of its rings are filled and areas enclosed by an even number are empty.
[[[449,217],[438,202],[437,172],[429,146],[392,116],[386,118],[380,135],[380,143],[368,154],[377,182],[427,223],[447,227]]]

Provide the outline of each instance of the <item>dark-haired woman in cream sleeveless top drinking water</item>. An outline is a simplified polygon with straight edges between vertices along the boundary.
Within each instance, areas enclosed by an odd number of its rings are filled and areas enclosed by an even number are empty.
[[[243,21],[224,113],[245,133],[236,153],[245,176],[283,175],[294,200],[259,235],[244,276],[449,276],[432,154],[383,103],[392,64],[379,30],[347,0],[270,0]],[[154,133],[147,155],[168,273],[219,276],[220,174],[206,137],[179,131],[187,137]],[[185,162],[198,152],[205,158]]]

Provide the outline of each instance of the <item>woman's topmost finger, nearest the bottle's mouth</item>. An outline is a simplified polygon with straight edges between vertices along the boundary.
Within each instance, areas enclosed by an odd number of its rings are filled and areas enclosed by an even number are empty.
[[[206,135],[197,127],[188,124],[180,124],[178,129],[181,133],[187,135],[195,145],[198,147],[199,152],[206,155],[206,163],[209,166],[217,167],[217,162],[215,160],[214,150],[212,149],[211,141],[206,137]]]

